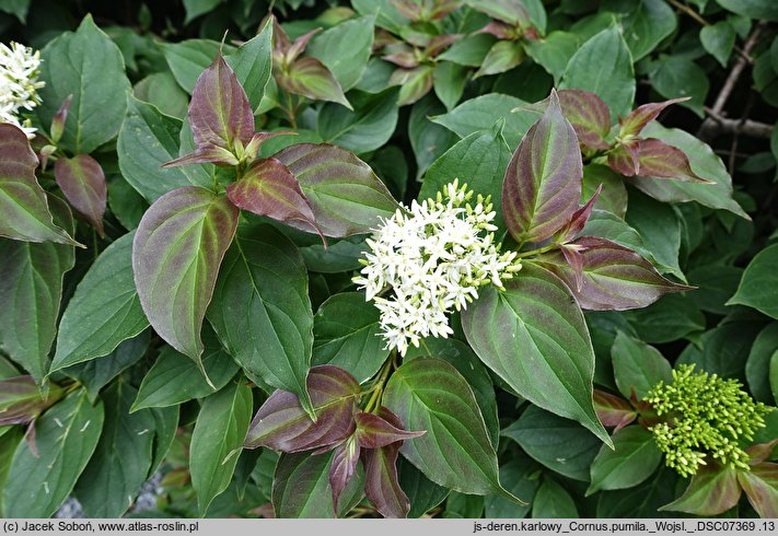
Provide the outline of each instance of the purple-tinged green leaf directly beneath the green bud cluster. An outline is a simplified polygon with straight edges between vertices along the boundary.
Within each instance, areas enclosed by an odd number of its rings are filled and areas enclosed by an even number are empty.
[[[727,512],[738,504],[741,488],[738,470],[716,463],[702,467],[692,477],[680,498],[660,508],[660,512],[685,512],[710,517]]]

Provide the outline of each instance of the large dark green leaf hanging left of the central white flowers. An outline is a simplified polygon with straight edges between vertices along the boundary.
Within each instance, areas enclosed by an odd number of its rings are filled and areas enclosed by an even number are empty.
[[[224,257],[208,319],[241,366],[313,411],[305,389],[313,347],[307,272],[289,238],[269,225],[242,228]]]

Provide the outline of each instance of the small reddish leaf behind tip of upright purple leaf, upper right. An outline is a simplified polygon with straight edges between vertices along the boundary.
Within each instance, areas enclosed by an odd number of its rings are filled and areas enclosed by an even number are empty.
[[[560,90],[559,103],[581,145],[597,150],[611,147],[605,141],[611,131],[611,109],[602,98],[584,90]]]

